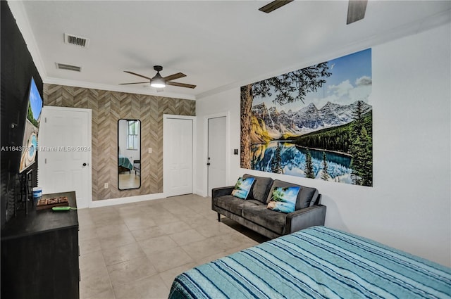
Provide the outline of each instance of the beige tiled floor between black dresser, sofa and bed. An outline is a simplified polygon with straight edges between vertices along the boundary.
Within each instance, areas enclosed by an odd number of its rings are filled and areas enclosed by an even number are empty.
[[[175,276],[267,239],[196,195],[78,210],[80,298],[168,298]]]

